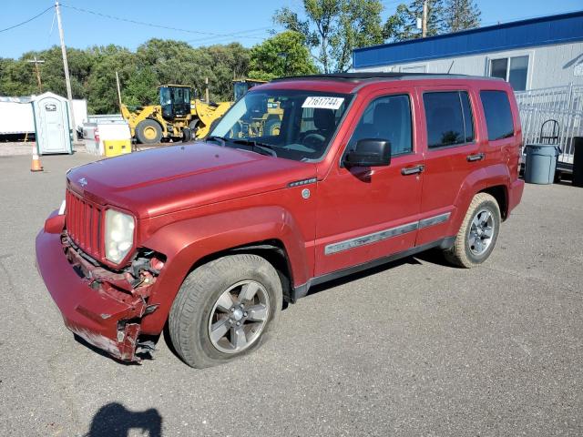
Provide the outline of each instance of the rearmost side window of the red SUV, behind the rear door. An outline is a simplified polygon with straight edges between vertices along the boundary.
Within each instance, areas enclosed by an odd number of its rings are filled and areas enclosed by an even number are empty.
[[[480,99],[486,117],[488,140],[512,137],[514,123],[506,91],[480,91]]]

